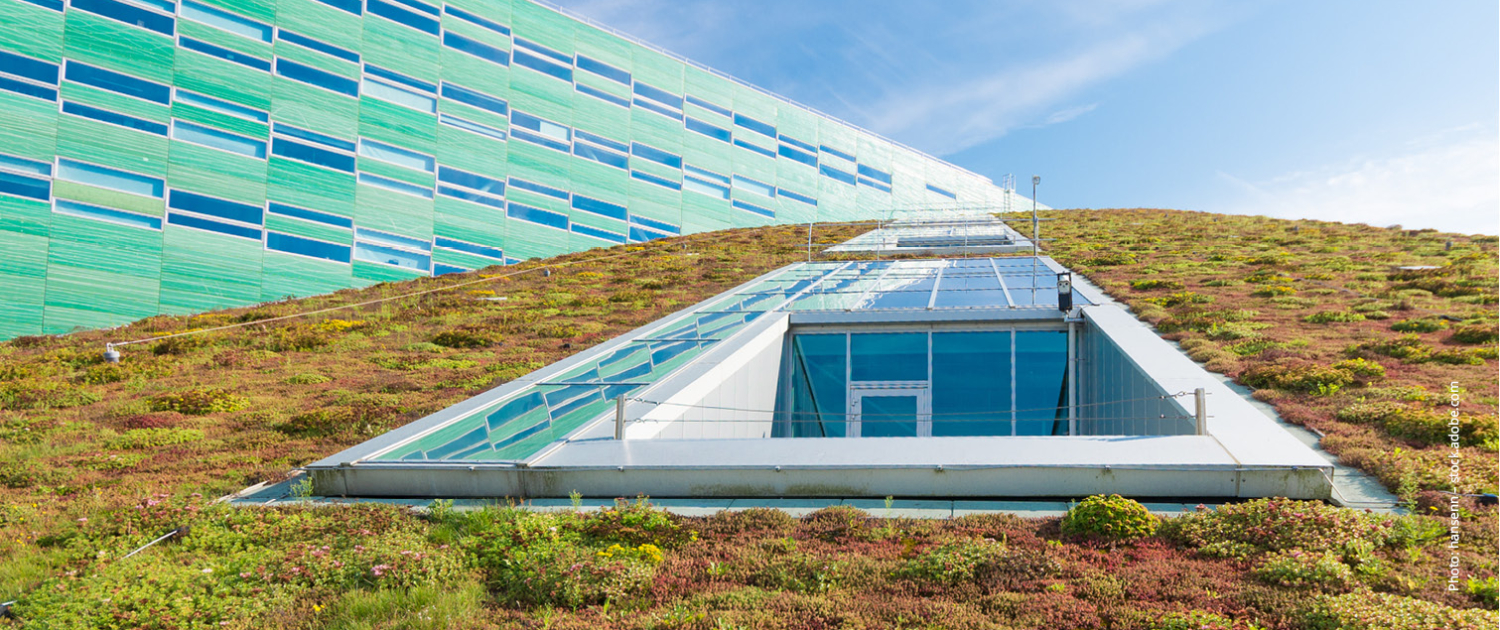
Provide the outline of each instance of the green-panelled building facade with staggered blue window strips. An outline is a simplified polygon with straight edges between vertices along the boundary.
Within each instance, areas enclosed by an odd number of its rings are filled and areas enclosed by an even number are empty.
[[[0,0],[0,339],[1004,198],[526,0]]]

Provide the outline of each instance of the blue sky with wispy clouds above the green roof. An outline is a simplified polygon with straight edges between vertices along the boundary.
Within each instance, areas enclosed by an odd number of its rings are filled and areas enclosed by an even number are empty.
[[[1500,3],[555,0],[1048,206],[1500,234]]]

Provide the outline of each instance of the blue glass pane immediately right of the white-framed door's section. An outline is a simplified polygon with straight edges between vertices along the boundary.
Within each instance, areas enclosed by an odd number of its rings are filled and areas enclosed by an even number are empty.
[[[933,435],[1011,435],[1011,333],[933,333]]]

